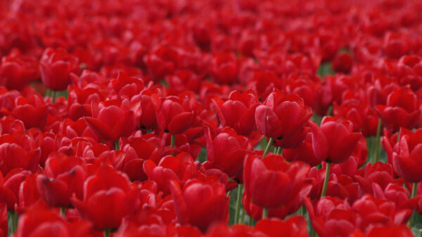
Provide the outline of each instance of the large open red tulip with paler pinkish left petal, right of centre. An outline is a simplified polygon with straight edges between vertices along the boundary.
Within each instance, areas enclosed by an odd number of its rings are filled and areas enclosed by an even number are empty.
[[[280,91],[271,93],[263,105],[255,111],[257,128],[267,137],[286,142],[283,147],[295,148],[306,133],[304,125],[312,116],[312,110],[307,107],[298,95],[283,95]],[[294,139],[295,135],[303,134],[302,139]],[[294,140],[293,144],[288,144]]]

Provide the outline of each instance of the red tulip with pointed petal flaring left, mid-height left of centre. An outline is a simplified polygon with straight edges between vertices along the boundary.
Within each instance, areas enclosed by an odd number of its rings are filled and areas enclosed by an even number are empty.
[[[117,141],[122,136],[129,136],[136,128],[136,118],[128,100],[92,102],[91,109],[93,117],[84,119],[101,140]]]

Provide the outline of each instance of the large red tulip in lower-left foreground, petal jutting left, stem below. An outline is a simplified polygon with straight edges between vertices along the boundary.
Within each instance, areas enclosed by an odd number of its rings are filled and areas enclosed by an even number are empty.
[[[80,215],[95,229],[117,228],[122,218],[136,212],[136,189],[126,175],[109,166],[102,166],[84,183],[84,199],[72,198]]]

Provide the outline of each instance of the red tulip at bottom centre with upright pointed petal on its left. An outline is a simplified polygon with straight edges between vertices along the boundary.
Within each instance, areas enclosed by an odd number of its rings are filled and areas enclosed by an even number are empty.
[[[219,182],[191,180],[183,190],[174,180],[170,180],[174,209],[180,224],[197,226],[207,231],[214,222],[229,220],[229,197],[226,188]]]

